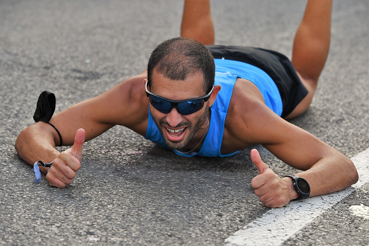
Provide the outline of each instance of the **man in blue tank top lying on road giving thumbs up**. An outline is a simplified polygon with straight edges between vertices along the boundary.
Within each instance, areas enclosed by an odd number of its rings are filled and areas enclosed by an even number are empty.
[[[159,44],[147,70],[25,128],[15,148],[31,165],[53,161],[41,171],[63,188],[81,166],[83,143],[123,125],[177,155],[230,156],[260,143],[304,170],[281,178],[251,150],[259,172],[251,185],[267,207],[351,186],[358,180],[351,160],[286,121],[313,98],[328,56],[331,5],[308,1],[290,62],[266,49],[213,45],[209,1],[185,1],[182,37]],[[73,146],[59,153],[62,144]]]

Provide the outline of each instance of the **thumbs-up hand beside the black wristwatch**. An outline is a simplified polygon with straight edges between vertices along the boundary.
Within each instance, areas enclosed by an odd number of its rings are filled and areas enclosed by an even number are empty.
[[[259,200],[269,208],[282,208],[290,202],[290,191],[285,180],[274,173],[262,160],[258,150],[251,150],[251,160],[258,168],[258,176],[251,180],[251,186]]]

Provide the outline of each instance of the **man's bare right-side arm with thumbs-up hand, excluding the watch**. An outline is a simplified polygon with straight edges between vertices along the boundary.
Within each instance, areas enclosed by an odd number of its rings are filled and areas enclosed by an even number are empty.
[[[261,143],[283,162],[303,170],[296,175],[308,181],[310,196],[339,191],[357,182],[358,173],[348,157],[278,117],[262,103],[252,103],[247,108],[245,115],[233,121],[239,141]],[[298,197],[289,177],[280,179],[259,160],[258,154],[252,153],[251,157],[259,170],[251,184],[267,207],[283,207]],[[263,164],[258,165],[259,161]]]

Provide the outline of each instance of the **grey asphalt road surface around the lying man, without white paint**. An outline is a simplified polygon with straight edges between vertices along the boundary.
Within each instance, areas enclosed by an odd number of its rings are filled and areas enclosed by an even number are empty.
[[[305,1],[212,0],[215,43],[291,56]],[[124,127],[85,143],[82,168],[50,187],[14,149],[39,93],[56,112],[145,69],[154,47],[179,35],[183,2],[0,1],[0,245],[223,245],[262,216],[246,149],[227,158],[176,156]],[[331,50],[310,109],[293,124],[348,157],[369,147],[369,1],[337,0]],[[59,148],[64,150],[66,147]],[[262,146],[280,176],[296,171]],[[368,245],[366,183],[284,245]],[[261,245],[263,242],[260,239]]]

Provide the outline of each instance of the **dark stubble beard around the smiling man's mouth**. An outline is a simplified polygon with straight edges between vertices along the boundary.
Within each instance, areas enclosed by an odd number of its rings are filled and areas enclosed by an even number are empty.
[[[163,125],[169,125],[169,123],[165,119],[158,122],[155,119],[155,117],[152,115],[152,112],[151,112],[151,117],[154,120],[156,126],[158,127],[161,135],[163,136],[163,139],[164,139],[164,142],[165,142],[166,146],[170,149],[180,150],[180,149],[185,148],[186,145],[191,141],[191,139],[196,135],[197,131],[200,130],[201,126],[204,124],[204,122],[206,120],[208,112],[209,112],[209,107],[208,107],[208,103],[207,103],[204,114],[199,115],[199,117],[196,117],[195,118],[196,121],[195,121],[194,124],[191,124],[190,122],[187,122],[187,121],[182,121],[176,126],[176,128],[177,127],[187,127],[187,131],[189,132],[189,135],[187,136],[187,138],[182,139],[179,142],[173,142],[173,141],[170,141],[168,138],[166,138],[166,132],[164,132],[162,126]]]

